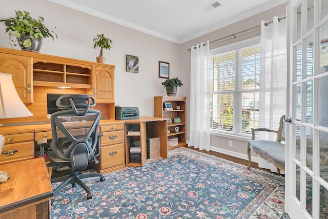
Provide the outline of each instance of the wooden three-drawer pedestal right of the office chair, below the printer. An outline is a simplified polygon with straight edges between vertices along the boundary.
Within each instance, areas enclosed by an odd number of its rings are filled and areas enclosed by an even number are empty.
[[[124,121],[100,122],[99,163],[92,167],[99,173],[107,173],[125,167]]]

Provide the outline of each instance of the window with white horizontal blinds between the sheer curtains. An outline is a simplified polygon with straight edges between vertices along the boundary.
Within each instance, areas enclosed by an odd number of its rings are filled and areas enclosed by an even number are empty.
[[[211,51],[211,132],[250,134],[258,128],[259,39]]]

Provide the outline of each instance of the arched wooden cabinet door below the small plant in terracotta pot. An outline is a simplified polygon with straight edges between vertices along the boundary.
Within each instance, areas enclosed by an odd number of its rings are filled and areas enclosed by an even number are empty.
[[[97,104],[114,103],[114,69],[93,67],[92,93]]]

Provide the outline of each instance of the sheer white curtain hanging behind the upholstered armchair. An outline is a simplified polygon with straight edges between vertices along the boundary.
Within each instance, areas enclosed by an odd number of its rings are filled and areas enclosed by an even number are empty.
[[[261,66],[259,127],[278,130],[286,113],[286,19],[274,17],[265,26],[261,21]],[[259,133],[259,139],[276,141],[275,134]],[[259,166],[277,169],[259,157]]]

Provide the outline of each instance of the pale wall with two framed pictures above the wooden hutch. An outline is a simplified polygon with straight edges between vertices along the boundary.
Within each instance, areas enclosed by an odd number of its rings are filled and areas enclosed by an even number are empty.
[[[5,1],[3,1],[5,2]],[[7,0],[1,4],[0,19],[15,16],[15,11],[28,11],[31,16],[45,18],[58,39],[43,40],[40,53],[95,62],[99,49],[92,38],[104,33],[113,41],[105,50],[107,64],[115,65],[115,104],[139,107],[140,116],[154,115],[154,96],[166,95],[158,77],[158,61],[170,63],[170,76],[179,76],[179,45],[104,19],[76,11],[46,0]],[[11,48],[4,22],[0,23],[0,47]],[[19,49],[19,48],[16,48]],[[139,73],[126,72],[126,54],[139,56]],[[178,89],[178,94],[180,90]]]

